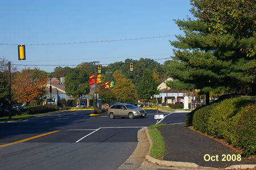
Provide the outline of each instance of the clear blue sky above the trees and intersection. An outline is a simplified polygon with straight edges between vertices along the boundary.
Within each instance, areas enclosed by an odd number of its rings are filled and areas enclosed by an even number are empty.
[[[189,0],[0,1],[0,57],[13,64],[111,64],[141,57],[170,57],[169,40],[182,34],[174,19],[191,16]],[[166,38],[97,42],[171,35]],[[18,44],[26,45],[26,60],[18,60]],[[157,60],[163,64],[166,60]],[[52,72],[56,66],[38,66]],[[63,66],[64,67],[64,66]],[[69,66],[71,67],[71,66]],[[19,69],[24,66],[19,66]],[[30,66],[34,68],[34,66]]]

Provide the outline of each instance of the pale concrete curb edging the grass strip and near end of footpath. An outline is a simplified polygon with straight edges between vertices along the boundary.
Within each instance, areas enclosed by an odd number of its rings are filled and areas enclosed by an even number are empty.
[[[150,138],[150,135],[148,134],[148,131],[147,131],[148,129],[147,128],[145,128],[145,129],[146,129],[148,141],[150,142],[150,149],[147,152],[146,159],[148,161],[150,161],[151,163],[162,165],[164,167],[178,167],[178,168],[205,168],[205,169],[246,169],[246,168],[250,168],[250,169],[253,169],[256,167],[256,164],[232,165],[232,166],[226,167],[226,168],[200,167],[200,165],[197,165],[195,163],[155,159],[154,157],[150,156],[150,150],[152,148],[152,140]]]

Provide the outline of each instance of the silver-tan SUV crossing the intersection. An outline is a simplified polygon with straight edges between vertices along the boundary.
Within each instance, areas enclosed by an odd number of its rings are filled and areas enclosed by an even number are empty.
[[[131,104],[118,103],[110,106],[108,115],[111,119],[114,119],[115,117],[129,117],[130,119],[133,119],[134,117],[144,118],[147,115],[147,112],[144,109],[139,109]]]

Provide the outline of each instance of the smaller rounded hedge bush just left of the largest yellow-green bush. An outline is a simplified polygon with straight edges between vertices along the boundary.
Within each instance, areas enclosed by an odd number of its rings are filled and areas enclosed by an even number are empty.
[[[205,106],[196,110],[193,115],[193,127],[200,132],[208,133],[208,119],[212,114],[214,108],[220,103],[213,103],[212,105]]]

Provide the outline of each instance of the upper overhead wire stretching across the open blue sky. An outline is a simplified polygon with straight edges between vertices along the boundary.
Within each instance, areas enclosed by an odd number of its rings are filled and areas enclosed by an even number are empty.
[[[88,44],[88,43],[106,43],[106,42],[123,42],[129,40],[146,40],[146,39],[157,39],[157,38],[166,38],[175,35],[162,35],[162,36],[150,36],[150,37],[142,37],[142,38],[128,38],[128,39],[116,39],[116,40],[99,40],[99,41],[90,41],[90,42],[69,42],[69,43],[35,43],[35,44],[26,44],[20,43],[24,45],[67,45],[67,44]],[[9,43],[0,43],[0,45],[20,45],[16,44],[9,44]]]

